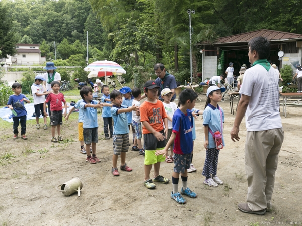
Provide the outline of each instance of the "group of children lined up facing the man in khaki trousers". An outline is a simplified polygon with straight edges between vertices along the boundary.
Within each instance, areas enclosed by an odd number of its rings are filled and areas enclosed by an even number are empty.
[[[128,152],[130,146],[129,130],[131,125],[133,133],[132,151],[139,151],[139,154],[144,155],[144,185],[149,189],[153,189],[156,187],[154,182],[168,183],[170,180],[160,175],[160,164],[164,161],[174,162],[171,198],[177,203],[184,204],[186,200],[182,197],[182,194],[190,198],[197,197],[196,193],[191,191],[187,185],[188,172],[196,171],[192,164],[193,146],[196,139],[194,118],[197,118],[202,112],[194,108],[198,95],[193,90],[185,89],[182,91],[179,95],[179,105],[176,106],[174,102],[170,102],[173,94],[170,89],[162,90],[163,102],[158,100],[160,87],[151,80],[144,85],[144,94],[147,100],[142,104],[139,102],[141,97],[139,88],[131,90],[129,87],[123,87],[110,93],[109,87],[103,85],[102,101],[98,102],[93,100],[93,90],[86,86],[80,90],[82,99],[66,115],[67,105],[64,95],[59,92],[60,83],[53,81],[51,83],[53,91],[49,93],[43,90],[41,85],[43,80],[43,77],[36,76],[35,83],[32,86],[37,120],[36,128],[39,129],[41,112],[44,119],[44,129],[47,129],[46,103],[50,102],[51,111],[49,115],[52,126],[52,142],[62,140],[60,136],[60,125],[62,125],[63,116],[62,103],[64,103],[65,108],[65,120],[68,120],[70,113],[77,108],[79,109],[80,152],[87,154],[86,162],[92,164],[101,162],[96,156],[96,143],[98,143],[97,108],[103,107],[105,139],[113,139],[113,166],[111,171],[114,176],[119,176],[117,167],[119,155],[121,160],[120,169],[127,172],[132,171],[126,164],[126,152]],[[25,135],[27,112],[24,102],[30,103],[30,101],[21,94],[21,88],[19,83],[13,84],[14,94],[10,96],[8,102],[9,108],[17,113],[13,115],[13,139],[18,136],[19,120],[22,128],[21,138],[27,139]],[[224,112],[218,106],[224,91],[225,88],[210,86],[207,90],[207,102],[203,111],[206,159],[202,175],[205,176],[203,183],[211,187],[218,187],[218,185],[223,184],[217,176],[217,163],[219,150],[225,146],[222,135]],[[47,94],[46,100],[45,94]],[[113,129],[112,119],[114,122]],[[58,139],[54,136],[56,128]],[[144,135],[144,145],[141,143],[142,134]],[[169,148],[170,154],[168,153]],[[150,178],[152,166],[154,166],[153,179]],[[180,193],[178,191],[179,175],[182,180]]]

